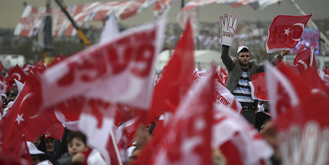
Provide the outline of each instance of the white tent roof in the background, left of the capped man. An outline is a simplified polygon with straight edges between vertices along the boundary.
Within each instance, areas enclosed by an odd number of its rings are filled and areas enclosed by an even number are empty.
[[[174,50],[172,50],[173,54]],[[169,50],[164,50],[158,56],[158,63],[156,65],[157,70],[161,70],[170,59]],[[235,58],[231,56],[231,58]],[[215,61],[217,64],[226,68],[221,59],[221,52],[214,50],[195,50],[194,51],[194,67],[200,69],[211,69],[211,62]]]

